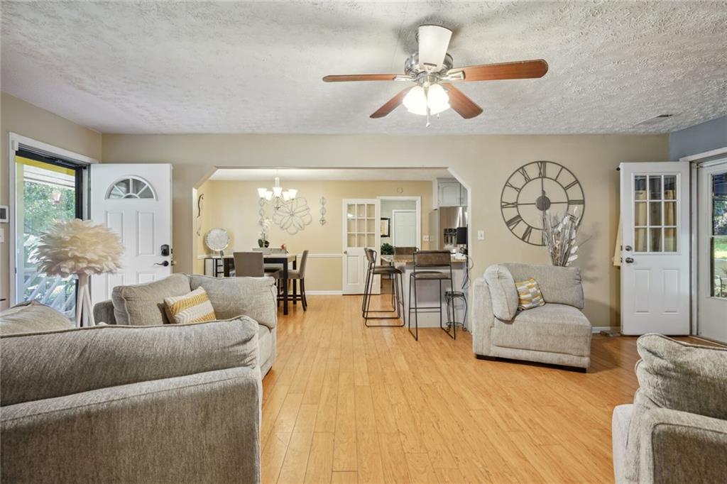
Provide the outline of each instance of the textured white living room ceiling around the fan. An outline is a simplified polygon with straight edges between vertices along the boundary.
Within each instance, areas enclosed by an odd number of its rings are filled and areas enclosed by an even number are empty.
[[[457,66],[543,58],[545,78],[461,84],[484,113],[369,114],[420,23]],[[727,2],[2,2],[2,89],[100,132],[671,132],[727,114]],[[639,121],[662,113],[659,124]]]

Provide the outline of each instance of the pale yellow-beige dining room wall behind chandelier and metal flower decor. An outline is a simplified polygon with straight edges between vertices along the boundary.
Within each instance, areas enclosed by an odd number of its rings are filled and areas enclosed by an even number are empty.
[[[222,227],[230,233],[231,251],[249,251],[257,247],[257,235],[260,233],[258,220],[257,187],[270,185],[270,182],[205,182],[198,190],[204,193],[202,217],[198,227],[197,254],[205,254],[204,234],[213,227]],[[294,187],[298,196],[305,198],[310,207],[313,222],[305,230],[290,235],[280,227],[270,227],[270,246],[279,247],[285,243],[288,250],[300,254],[303,250],[310,251],[308,267],[306,267],[305,286],[308,291],[340,291],[342,259],[342,206],[344,198],[377,198],[378,196],[419,196],[422,206],[430,206],[432,196],[431,182],[390,182],[382,181],[318,181],[289,182],[281,177],[281,185]],[[401,190],[401,191],[400,191]],[[321,218],[318,202],[326,198],[326,225],[318,223]],[[414,202],[411,202],[414,203]],[[422,217],[422,233],[427,233],[428,218]],[[266,217],[272,217],[270,208]],[[384,241],[386,239],[383,239]],[[201,262],[197,260],[196,272],[203,272]]]

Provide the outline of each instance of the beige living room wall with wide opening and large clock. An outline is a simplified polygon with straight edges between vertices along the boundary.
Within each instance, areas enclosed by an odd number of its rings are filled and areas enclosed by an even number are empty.
[[[464,121],[466,122],[466,121]],[[103,161],[174,164],[176,270],[194,267],[193,188],[215,167],[449,167],[470,188],[474,275],[502,261],[547,263],[545,249],[518,241],[505,227],[499,195],[507,177],[536,160],[567,166],[586,198],[577,265],[584,277],[585,312],[595,326],[617,326],[619,271],[612,267],[619,213],[616,166],[669,159],[667,135],[385,136],[180,134],[103,136]],[[425,205],[422,205],[424,207]]]

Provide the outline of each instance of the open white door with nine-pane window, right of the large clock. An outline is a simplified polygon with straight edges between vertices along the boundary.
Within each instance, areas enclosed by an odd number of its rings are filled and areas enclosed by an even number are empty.
[[[620,166],[621,331],[689,334],[689,166]]]

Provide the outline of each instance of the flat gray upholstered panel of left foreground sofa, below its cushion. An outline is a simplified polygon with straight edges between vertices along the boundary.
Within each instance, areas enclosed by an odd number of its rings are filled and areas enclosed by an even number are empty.
[[[4,406],[0,470],[13,483],[259,483],[260,401],[260,371],[240,367]]]

